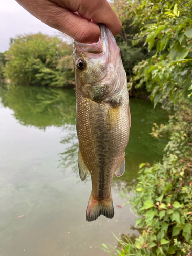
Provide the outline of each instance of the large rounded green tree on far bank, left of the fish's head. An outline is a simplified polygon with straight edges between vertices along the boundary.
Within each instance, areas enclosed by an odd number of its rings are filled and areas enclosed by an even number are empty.
[[[4,75],[12,83],[63,87],[74,83],[73,46],[57,37],[17,36],[6,52]]]

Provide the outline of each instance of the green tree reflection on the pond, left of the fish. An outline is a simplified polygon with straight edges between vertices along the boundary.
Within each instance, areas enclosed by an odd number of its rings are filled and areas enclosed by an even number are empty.
[[[75,91],[32,86],[0,86],[2,104],[22,125],[39,129],[75,124]]]

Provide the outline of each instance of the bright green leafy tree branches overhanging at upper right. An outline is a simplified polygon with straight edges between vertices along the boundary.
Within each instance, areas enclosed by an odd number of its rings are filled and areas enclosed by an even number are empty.
[[[174,103],[181,96],[191,100],[192,1],[175,1],[174,4],[172,1],[164,4],[154,1],[147,3],[153,6],[150,9],[152,17],[150,22],[146,17],[140,17],[144,24],[140,36],[146,36],[148,50],[156,47],[156,52],[134,68],[134,80],[139,81],[139,86],[146,84],[147,90],[152,91],[154,107],[165,94]],[[139,9],[146,11],[142,5],[137,11]]]

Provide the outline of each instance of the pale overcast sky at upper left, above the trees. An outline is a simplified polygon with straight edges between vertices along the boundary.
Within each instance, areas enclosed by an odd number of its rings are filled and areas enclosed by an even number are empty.
[[[0,52],[9,49],[10,38],[19,34],[38,32],[48,35],[59,33],[33,17],[15,0],[0,0]]]

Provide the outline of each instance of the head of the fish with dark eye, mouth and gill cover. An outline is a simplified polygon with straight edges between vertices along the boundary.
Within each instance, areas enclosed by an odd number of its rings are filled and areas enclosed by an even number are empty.
[[[98,103],[107,103],[123,88],[126,74],[120,50],[111,31],[103,24],[97,43],[80,44],[74,40],[76,90]]]

